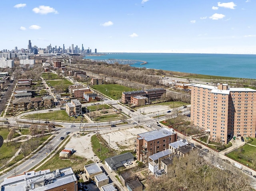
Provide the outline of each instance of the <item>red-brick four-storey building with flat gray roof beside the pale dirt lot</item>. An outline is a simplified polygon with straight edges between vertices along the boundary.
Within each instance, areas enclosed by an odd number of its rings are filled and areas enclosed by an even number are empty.
[[[137,135],[136,155],[139,161],[147,163],[148,157],[167,150],[169,144],[177,141],[177,134],[172,128],[160,128]]]

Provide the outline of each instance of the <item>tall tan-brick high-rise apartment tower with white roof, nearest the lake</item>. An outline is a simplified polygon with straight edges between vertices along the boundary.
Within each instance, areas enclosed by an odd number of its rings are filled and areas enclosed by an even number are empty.
[[[191,122],[210,132],[210,140],[228,143],[232,136],[255,138],[256,90],[194,84],[191,89]]]

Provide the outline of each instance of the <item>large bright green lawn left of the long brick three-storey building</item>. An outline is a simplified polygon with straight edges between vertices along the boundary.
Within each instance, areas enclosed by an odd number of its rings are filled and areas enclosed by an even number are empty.
[[[99,91],[100,93],[109,96],[114,100],[118,100],[122,97],[122,92],[134,91],[136,89],[122,86],[119,84],[102,84],[91,86],[93,89]]]

